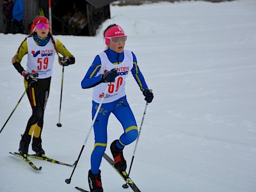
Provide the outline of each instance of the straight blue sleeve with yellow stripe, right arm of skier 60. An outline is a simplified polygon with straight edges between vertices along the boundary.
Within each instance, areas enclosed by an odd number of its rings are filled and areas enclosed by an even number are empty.
[[[132,67],[132,76],[134,77],[134,79],[136,80],[136,82],[138,83],[138,85],[140,86],[140,90],[141,92],[143,92],[143,90],[147,89],[147,83],[143,77],[143,74],[140,71],[140,68],[137,64],[137,58],[135,56],[135,54],[132,52],[132,56],[133,56],[133,67]]]

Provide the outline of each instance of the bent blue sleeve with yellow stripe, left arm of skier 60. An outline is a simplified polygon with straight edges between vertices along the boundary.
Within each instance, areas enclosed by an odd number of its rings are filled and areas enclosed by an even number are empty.
[[[84,79],[81,82],[81,86],[83,89],[92,88],[93,86],[96,86],[97,84],[102,83],[101,76],[96,76],[96,74],[100,70],[100,67],[101,67],[101,61],[100,61],[99,55],[97,55],[93,60],[91,67],[86,72]]]

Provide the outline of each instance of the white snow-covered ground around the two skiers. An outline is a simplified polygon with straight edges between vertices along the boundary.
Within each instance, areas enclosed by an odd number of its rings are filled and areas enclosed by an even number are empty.
[[[141,6],[111,5],[111,19],[96,36],[58,36],[76,56],[65,67],[61,124],[61,70],[56,65],[45,111],[43,147],[47,156],[76,161],[92,123],[92,89],[80,86],[94,57],[105,49],[102,31],[119,24],[128,35],[154,100],[148,105],[131,178],[141,191],[256,191],[256,1],[181,1]],[[24,92],[10,62],[26,35],[0,34],[0,122]],[[26,57],[22,60],[26,65]],[[140,127],[145,100],[132,76],[127,98]],[[33,159],[41,172],[8,152],[17,152],[31,109],[25,96],[0,134],[0,191],[77,191],[88,189],[93,131],[73,168]],[[111,116],[109,143],[122,133]],[[128,166],[135,142],[125,148]],[[29,151],[32,152],[31,148]],[[106,150],[110,154],[109,145]],[[123,189],[124,180],[103,159],[104,191]]]

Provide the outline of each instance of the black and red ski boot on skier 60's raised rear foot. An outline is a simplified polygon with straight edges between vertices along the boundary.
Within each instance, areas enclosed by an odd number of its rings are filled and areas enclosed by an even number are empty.
[[[123,150],[116,147],[116,142],[118,142],[118,140],[115,140],[113,141],[113,143],[111,143],[110,150],[115,161],[115,168],[121,173],[121,172],[125,172],[127,168],[127,164],[124,159]]]

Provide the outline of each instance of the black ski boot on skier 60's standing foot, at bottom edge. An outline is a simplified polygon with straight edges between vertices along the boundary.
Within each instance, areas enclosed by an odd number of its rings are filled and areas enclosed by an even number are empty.
[[[88,172],[88,182],[91,192],[103,192],[102,183],[101,183],[101,176],[100,170],[97,175],[93,175],[92,171],[89,170]]]

